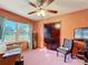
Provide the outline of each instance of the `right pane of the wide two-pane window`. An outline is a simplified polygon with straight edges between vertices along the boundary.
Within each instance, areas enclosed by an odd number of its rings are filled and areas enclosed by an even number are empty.
[[[29,39],[29,25],[18,23],[18,40],[23,41]]]

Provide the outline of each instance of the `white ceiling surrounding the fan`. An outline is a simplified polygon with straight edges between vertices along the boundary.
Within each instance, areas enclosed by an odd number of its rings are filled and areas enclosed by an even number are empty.
[[[37,0],[29,1],[36,3]],[[36,10],[36,8],[28,3],[28,0],[0,0],[0,8],[32,20],[40,20],[70,13],[77,10],[88,9],[88,0],[55,0],[50,6],[46,7],[46,9],[57,10],[58,14],[46,12],[47,15],[45,18],[40,18],[36,13],[28,14],[28,12]]]

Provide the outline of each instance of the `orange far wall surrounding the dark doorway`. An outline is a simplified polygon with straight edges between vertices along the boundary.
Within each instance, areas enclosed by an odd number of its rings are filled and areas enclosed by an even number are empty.
[[[72,39],[74,29],[88,26],[88,9],[68,13],[61,17],[55,17],[46,20],[41,20],[38,26],[38,43],[39,46],[43,46],[43,24],[51,22],[61,22],[61,35],[60,41],[62,43],[63,37]]]

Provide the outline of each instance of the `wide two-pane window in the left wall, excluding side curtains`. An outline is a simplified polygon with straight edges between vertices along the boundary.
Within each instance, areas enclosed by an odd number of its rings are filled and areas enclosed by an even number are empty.
[[[6,20],[3,23],[3,42],[29,41],[31,42],[31,25]]]

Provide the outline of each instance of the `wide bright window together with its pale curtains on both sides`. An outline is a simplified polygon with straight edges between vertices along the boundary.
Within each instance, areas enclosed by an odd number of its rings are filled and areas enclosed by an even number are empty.
[[[0,43],[11,44],[19,41],[28,42],[29,48],[32,48],[32,25],[18,23],[0,17]],[[17,46],[17,44],[13,44]]]

